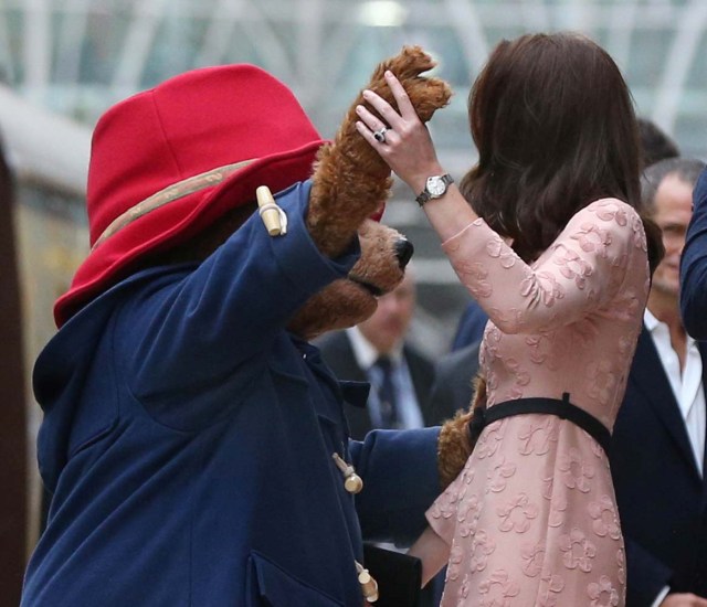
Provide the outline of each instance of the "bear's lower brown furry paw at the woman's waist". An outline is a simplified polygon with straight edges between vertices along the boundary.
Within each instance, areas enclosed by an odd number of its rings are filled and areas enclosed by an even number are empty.
[[[486,408],[486,381],[479,374],[474,380],[474,398],[469,407],[460,409],[442,425],[437,440],[437,469],[442,489],[460,475],[472,455],[478,436],[469,434],[469,423],[476,408]]]

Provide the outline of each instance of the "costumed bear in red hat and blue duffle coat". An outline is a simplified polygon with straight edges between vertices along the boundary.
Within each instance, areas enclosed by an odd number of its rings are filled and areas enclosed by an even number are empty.
[[[450,96],[420,75],[432,66],[404,49],[369,87],[388,95],[392,70],[429,119]],[[367,391],[307,341],[367,318],[410,256],[368,219],[391,179],[356,119],[325,143],[249,65],[177,76],[101,118],[91,254],[34,371],[53,498],[24,607],[361,607],[362,536],[422,531],[439,428],[350,441],[342,402]]]

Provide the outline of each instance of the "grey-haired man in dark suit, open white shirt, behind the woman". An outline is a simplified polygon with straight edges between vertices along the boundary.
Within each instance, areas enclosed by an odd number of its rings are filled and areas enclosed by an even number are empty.
[[[653,275],[610,454],[629,607],[707,606],[707,345],[687,336],[678,307],[679,259],[703,167],[663,160],[643,178],[666,254]]]

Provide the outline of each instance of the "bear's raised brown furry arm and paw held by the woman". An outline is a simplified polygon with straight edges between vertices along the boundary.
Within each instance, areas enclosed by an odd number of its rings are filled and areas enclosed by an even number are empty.
[[[367,88],[395,107],[383,78],[390,70],[405,87],[420,119],[428,121],[452,94],[444,81],[420,75],[434,65],[419,46],[405,46],[376,68]],[[388,200],[392,187],[388,164],[356,130],[356,106],[363,103],[359,93],[334,142],[321,148],[315,164],[307,226],[319,249],[330,257],[345,251],[363,220]]]

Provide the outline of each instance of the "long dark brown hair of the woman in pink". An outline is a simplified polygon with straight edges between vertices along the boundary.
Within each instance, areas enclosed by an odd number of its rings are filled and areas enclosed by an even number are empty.
[[[472,87],[468,115],[479,159],[462,192],[526,262],[598,199],[641,209],[633,100],[616,64],[588,38],[500,42]],[[659,245],[659,233],[648,237],[656,236]]]

